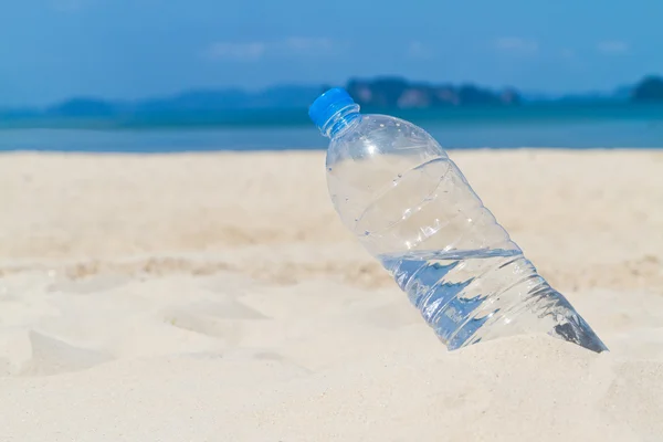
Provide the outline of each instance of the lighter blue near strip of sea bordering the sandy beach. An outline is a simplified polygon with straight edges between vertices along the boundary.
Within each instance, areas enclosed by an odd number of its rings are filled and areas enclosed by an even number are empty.
[[[525,109],[522,108],[520,112],[523,110]],[[272,126],[6,127],[0,129],[0,151],[165,154],[325,149],[328,139],[305,116],[302,119],[296,124]],[[663,148],[663,107],[652,115],[411,119],[449,149]]]

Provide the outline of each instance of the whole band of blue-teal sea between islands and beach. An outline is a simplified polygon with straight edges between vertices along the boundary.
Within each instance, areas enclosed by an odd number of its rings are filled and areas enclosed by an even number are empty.
[[[422,126],[448,149],[663,148],[663,104],[399,109],[390,114]],[[327,141],[308,120],[306,109],[134,120],[0,120],[0,151],[314,150],[325,149]]]

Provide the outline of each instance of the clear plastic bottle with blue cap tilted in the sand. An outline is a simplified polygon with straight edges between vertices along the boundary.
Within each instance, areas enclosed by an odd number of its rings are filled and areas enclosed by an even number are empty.
[[[528,333],[607,350],[425,130],[360,114],[341,88],[308,114],[330,138],[327,185],[340,219],[450,350]]]

